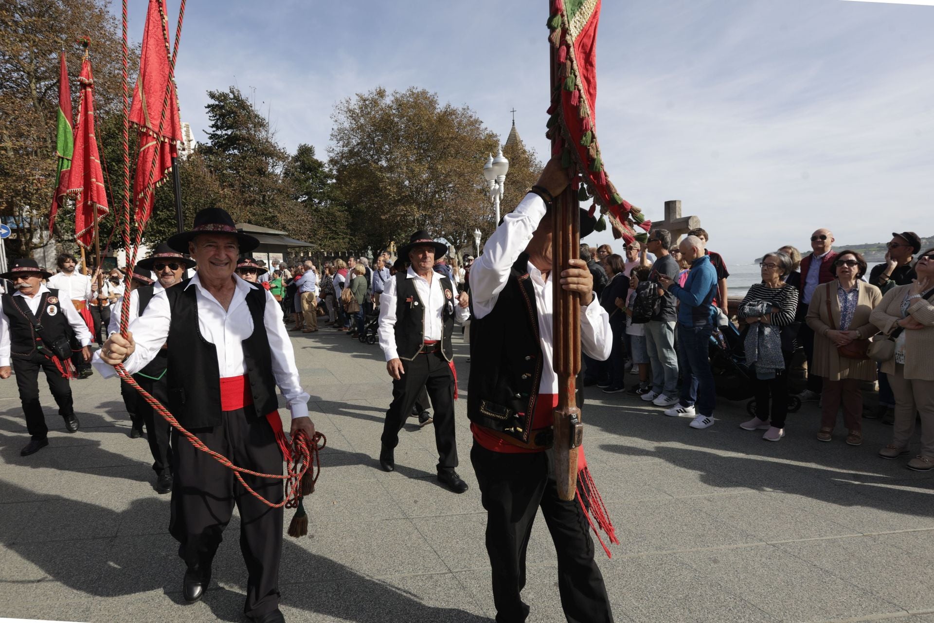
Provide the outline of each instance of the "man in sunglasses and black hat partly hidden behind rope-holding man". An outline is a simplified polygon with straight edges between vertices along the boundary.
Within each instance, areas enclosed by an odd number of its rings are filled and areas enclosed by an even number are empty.
[[[149,302],[156,294],[181,283],[185,271],[193,268],[194,265],[195,262],[191,258],[185,257],[165,243],[157,246],[148,258],[137,262],[134,268],[134,278],[131,281],[130,322],[146,312]],[[155,282],[150,280],[149,284],[146,284],[144,279],[151,275],[150,271],[158,276],[158,280]],[[110,334],[120,331],[122,302],[115,306],[116,311],[108,328]],[[168,401],[168,380],[165,375],[167,362],[168,349],[162,347],[146,367],[133,375],[136,383],[162,404],[167,404]],[[149,442],[149,452],[152,454],[152,471],[156,473],[155,489],[158,493],[168,493],[172,490],[173,480],[172,446],[169,438],[171,427],[135,389],[122,379],[120,379],[120,391],[127,397],[126,402],[134,404],[136,418],[141,419],[146,426],[146,439]],[[133,436],[132,433],[131,436]]]

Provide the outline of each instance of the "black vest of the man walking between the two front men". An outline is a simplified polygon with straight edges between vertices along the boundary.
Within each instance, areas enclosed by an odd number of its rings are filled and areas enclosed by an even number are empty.
[[[425,302],[418,296],[415,279],[408,278],[404,271],[396,273],[396,349],[399,358],[412,361],[418,355],[425,341]],[[442,307],[441,354],[447,361],[454,356],[451,347],[451,334],[454,333],[454,285],[446,276],[435,273],[432,279],[441,279],[441,290],[445,292],[445,305]],[[451,297],[446,294],[450,292]]]

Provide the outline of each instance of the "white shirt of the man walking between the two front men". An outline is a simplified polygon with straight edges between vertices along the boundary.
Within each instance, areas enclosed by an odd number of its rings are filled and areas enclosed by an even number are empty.
[[[441,278],[432,270],[432,280],[417,276],[411,267],[405,272],[405,278],[415,279],[415,290],[418,301],[413,304],[425,305],[424,324],[426,340],[440,340],[444,334],[445,323],[441,313],[445,308],[447,297],[441,288]],[[458,287],[451,282],[454,291],[451,292],[451,303],[454,304],[454,319],[463,324],[470,317],[470,309],[458,304]],[[397,359],[399,351],[396,348],[396,279],[389,277],[383,286],[383,293],[379,295],[379,347],[383,349],[386,361]]]

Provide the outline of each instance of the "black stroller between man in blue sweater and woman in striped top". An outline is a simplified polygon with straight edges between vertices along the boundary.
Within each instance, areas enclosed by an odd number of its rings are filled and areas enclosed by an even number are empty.
[[[732,322],[719,327],[710,338],[710,364],[714,371],[716,394],[727,400],[749,401],[746,412],[756,416],[756,400],[753,398],[756,370],[746,364],[743,337]],[[800,408],[801,399],[795,394],[788,394],[788,413],[796,413]]]

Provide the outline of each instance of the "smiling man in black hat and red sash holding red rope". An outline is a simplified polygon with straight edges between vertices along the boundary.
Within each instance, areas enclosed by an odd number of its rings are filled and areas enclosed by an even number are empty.
[[[233,274],[239,254],[259,241],[237,232],[226,211],[206,208],[195,216],[190,232],[172,236],[168,245],[188,252],[198,262],[197,273],[154,296],[126,337],[111,335],[95,365],[113,375],[107,366],[122,362],[137,373],[167,345],[167,406],[179,425],[240,467],[281,474],[286,438],[276,386],[291,410],[291,434],[302,431],[313,439],[315,426],[276,299]],[[177,432],[172,447],[169,531],[188,566],[182,582],[185,600],[201,599],[210,583],[211,564],[235,503],[248,570],[244,612],[252,621],[283,621],[278,609],[282,508],[250,495],[232,470]],[[282,501],[281,481],[243,477],[270,503]]]

